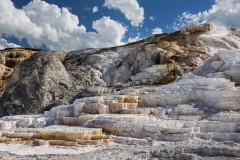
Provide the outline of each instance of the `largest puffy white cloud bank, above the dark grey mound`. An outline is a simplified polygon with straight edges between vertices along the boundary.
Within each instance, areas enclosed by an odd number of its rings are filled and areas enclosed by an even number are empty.
[[[86,32],[67,8],[33,0],[16,9],[11,0],[0,0],[0,35],[26,38],[32,47],[45,44],[51,50],[68,51],[122,45],[126,27],[102,17],[93,22],[96,32]]]

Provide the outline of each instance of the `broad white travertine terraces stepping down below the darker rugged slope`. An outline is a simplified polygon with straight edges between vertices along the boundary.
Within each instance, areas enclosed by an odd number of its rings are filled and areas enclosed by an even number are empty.
[[[239,142],[239,97],[240,91],[233,82],[188,74],[161,87],[132,87],[112,95],[78,99],[72,105],[54,107],[42,116],[3,117],[0,124],[2,129],[10,130],[57,124],[102,128],[117,136],[151,137],[157,141],[200,138]],[[234,117],[230,116],[233,114]],[[92,143],[100,142],[104,141]]]

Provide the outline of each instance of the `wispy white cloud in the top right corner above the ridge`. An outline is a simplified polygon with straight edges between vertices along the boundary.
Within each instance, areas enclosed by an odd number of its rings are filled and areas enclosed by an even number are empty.
[[[217,26],[240,28],[240,3],[239,0],[215,0],[209,10],[192,14],[184,12],[174,22],[174,29],[189,24],[211,22]]]

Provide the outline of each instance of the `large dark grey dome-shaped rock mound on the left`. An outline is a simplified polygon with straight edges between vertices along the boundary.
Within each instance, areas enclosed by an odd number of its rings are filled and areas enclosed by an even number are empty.
[[[21,63],[9,80],[0,99],[1,116],[38,114],[51,104],[66,103],[64,96],[71,87],[71,79],[55,53],[37,52]]]

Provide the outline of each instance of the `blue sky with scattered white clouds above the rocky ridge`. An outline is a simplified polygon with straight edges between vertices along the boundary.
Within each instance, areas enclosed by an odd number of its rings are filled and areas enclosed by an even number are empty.
[[[122,45],[212,22],[239,28],[239,0],[0,0],[0,48]]]

